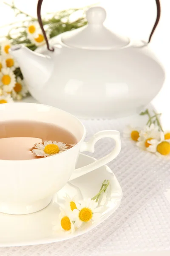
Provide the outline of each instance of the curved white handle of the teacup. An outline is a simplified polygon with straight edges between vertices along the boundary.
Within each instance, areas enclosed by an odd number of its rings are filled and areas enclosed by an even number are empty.
[[[120,133],[119,131],[113,131],[113,130],[97,132],[96,134],[94,134],[93,137],[91,137],[91,139],[88,142],[82,143],[80,152],[89,151],[94,153],[95,143],[102,138],[112,138],[113,140],[115,140],[116,142],[115,148],[113,148],[113,150],[108,155],[106,155],[105,157],[102,157],[99,160],[96,160],[94,163],[75,169],[74,173],[70,177],[70,180],[74,180],[79,176],[82,176],[88,172],[91,172],[94,169],[97,169],[100,166],[103,166],[104,164],[109,163],[111,160],[113,160],[118,156],[121,150]]]

